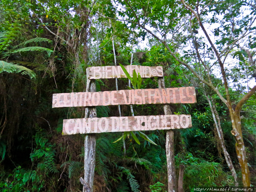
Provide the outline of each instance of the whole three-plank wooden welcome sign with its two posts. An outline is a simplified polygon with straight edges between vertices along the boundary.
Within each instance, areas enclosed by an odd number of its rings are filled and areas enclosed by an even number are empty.
[[[195,103],[194,87],[165,88],[164,73],[161,66],[125,66],[132,74],[135,70],[143,78],[158,77],[158,89],[132,89],[96,92],[95,79],[127,78],[120,66],[90,67],[86,69],[86,92],[57,93],[52,96],[52,108],[86,107],[85,117],[64,119],[63,135],[85,134],[84,139],[84,179],[83,192],[92,192],[95,168],[96,133],[167,130],[166,158],[168,170],[168,192],[174,191],[174,133],[172,129],[192,127],[190,115],[172,115],[170,103]],[[128,116],[97,118],[96,106],[164,104],[164,115]]]

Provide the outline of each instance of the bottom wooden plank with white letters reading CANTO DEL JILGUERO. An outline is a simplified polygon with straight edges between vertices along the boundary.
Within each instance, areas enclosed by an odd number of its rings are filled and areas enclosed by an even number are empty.
[[[126,116],[64,119],[62,135],[182,129],[192,127],[190,115]]]

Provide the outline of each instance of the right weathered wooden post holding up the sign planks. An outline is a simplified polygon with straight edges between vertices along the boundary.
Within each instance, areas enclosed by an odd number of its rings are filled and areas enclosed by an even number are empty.
[[[158,77],[158,88],[165,88],[164,77]],[[164,104],[164,115],[172,115],[169,104]],[[168,174],[168,192],[175,192],[174,132],[172,130],[168,130],[166,132],[165,150]]]

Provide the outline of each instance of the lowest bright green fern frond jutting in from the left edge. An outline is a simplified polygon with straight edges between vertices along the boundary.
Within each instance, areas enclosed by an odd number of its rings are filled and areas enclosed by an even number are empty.
[[[21,65],[15,65],[13,63],[8,63],[5,61],[0,60],[0,73],[2,72],[8,72],[8,73],[19,73],[21,72],[22,75],[29,75],[32,79],[33,77],[36,77],[36,74],[31,69],[28,69]]]

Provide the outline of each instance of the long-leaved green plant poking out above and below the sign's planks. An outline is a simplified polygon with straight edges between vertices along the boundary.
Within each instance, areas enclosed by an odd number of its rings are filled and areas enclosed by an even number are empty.
[[[124,74],[127,76],[127,78],[129,80],[131,80],[131,83],[132,83],[132,86],[134,89],[140,89],[140,85],[141,85],[141,82],[142,82],[142,78],[140,76],[140,73],[138,73],[138,76],[137,76],[137,73],[135,71],[135,69],[133,69],[133,74],[132,74],[132,77],[130,76],[130,74],[128,73],[128,71],[124,68],[124,66],[122,64],[120,64],[121,68],[123,69],[124,71]],[[130,88],[130,87],[129,87]],[[143,122],[144,123],[144,122]],[[142,125],[144,126],[144,125]],[[152,143],[154,145],[157,145],[154,141],[152,141],[151,139],[149,139],[149,137],[141,132],[141,131],[135,131],[135,133],[139,134],[140,137],[142,137],[143,139],[145,139],[146,141],[148,141],[149,143]],[[138,143],[140,145],[140,141],[138,139],[138,137],[135,135],[135,133],[133,131],[127,131],[127,132],[124,132],[124,134],[118,139],[116,140],[115,142],[121,140],[124,138],[126,138],[126,136],[129,138],[130,137],[130,134],[132,135],[133,139],[136,141],[136,143]],[[113,143],[115,143],[113,142]]]

